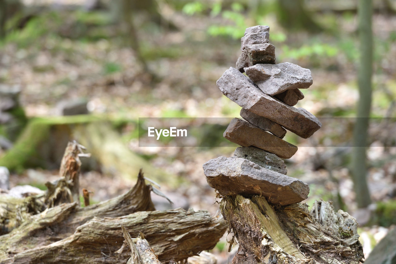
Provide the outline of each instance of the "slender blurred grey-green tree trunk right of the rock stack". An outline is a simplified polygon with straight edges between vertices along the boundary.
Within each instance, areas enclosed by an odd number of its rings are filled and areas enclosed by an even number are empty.
[[[359,101],[354,127],[352,152],[352,179],[359,208],[371,203],[367,187],[366,146],[371,108],[371,76],[373,72],[373,33],[371,0],[359,0],[358,19],[360,37],[360,61],[358,69]]]

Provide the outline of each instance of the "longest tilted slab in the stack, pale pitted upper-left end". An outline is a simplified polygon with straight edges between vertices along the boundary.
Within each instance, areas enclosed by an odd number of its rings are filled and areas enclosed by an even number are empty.
[[[223,73],[217,80],[217,87],[242,108],[268,118],[304,139],[322,127],[322,123],[314,115],[266,95],[235,68],[230,67]]]

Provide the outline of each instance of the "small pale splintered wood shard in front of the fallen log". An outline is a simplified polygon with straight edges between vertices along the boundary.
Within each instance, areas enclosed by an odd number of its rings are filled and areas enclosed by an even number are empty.
[[[126,262],[127,264],[161,264],[146,239],[140,236],[132,239],[123,225],[121,225],[121,228],[126,243],[131,249],[131,257]]]

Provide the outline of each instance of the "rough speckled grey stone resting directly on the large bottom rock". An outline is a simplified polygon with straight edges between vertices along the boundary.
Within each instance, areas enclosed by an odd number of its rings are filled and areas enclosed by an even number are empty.
[[[263,168],[276,171],[278,173],[287,174],[285,161],[276,156],[275,154],[269,153],[265,150],[255,147],[239,147],[234,151],[234,157],[244,158],[251,162],[260,165]]]

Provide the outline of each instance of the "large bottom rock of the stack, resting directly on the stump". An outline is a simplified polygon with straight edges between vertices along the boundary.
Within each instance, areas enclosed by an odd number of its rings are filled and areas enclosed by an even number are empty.
[[[269,203],[289,205],[307,199],[308,184],[243,158],[219,157],[203,165],[209,186],[223,196],[262,195]]]

